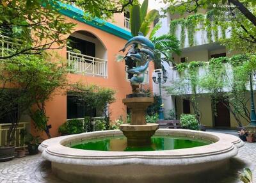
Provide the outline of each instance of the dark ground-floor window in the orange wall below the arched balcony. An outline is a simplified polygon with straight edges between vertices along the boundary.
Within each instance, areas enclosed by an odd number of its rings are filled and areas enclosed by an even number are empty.
[[[96,116],[96,109],[80,104],[78,97],[67,95],[67,119],[84,118],[84,116]]]

